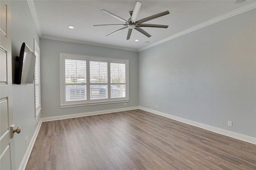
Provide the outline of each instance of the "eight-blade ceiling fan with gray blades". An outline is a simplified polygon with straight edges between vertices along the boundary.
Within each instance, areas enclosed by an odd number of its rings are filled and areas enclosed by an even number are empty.
[[[119,17],[119,16],[117,16],[117,15],[115,15],[115,14],[113,14],[113,13],[111,13],[111,12],[108,12],[107,10],[100,10],[100,11],[102,11],[106,14],[109,14],[110,16],[124,22],[124,24],[103,24],[103,25],[93,25],[93,26],[125,26],[123,28],[120,28],[119,30],[116,30],[116,31],[106,35],[106,36],[110,36],[110,35],[115,34],[115,33],[119,32],[121,30],[129,28],[126,40],[130,40],[130,36],[132,34],[133,29],[137,30],[138,32],[144,34],[145,36],[147,36],[149,38],[149,37],[151,37],[151,35],[148,34],[145,30],[143,30],[140,27],[168,28],[168,26],[166,26],[166,25],[142,24],[142,23],[144,23],[146,21],[149,21],[149,20],[153,20],[155,18],[164,16],[164,15],[167,15],[167,14],[170,14],[169,11],[160,12],[158,14],[155,14],[155,15],[152,15],[152,16],[149,16],[149,17],[146,17],[146,18],[143,18],[141,20],[136,21],[138,13],[140,11],[140,6],[141,6],[141,2],[136,1],[135,6],[134,6],[134,10],[129,12],[129,15],[130,15],[131,18],[129,18],[128,21]]]

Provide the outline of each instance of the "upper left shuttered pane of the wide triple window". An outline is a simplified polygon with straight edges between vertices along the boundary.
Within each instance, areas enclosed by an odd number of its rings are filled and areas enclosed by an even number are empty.
[[[86,83],[86,61],[65,59],[65,82]]]

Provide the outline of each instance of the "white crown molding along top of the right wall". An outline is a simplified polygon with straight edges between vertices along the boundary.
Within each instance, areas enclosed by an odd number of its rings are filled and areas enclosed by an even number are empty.
[[[181,32],[178,32],[177,34],[174,34],[174,35],[172,35],[172,36],[170,36],[170,37],[164,38],[164,39],[162,39],[162,40],[160,40],[160,41],[158,41],[158,42],[155,42],[155,43],[152,43],[152,44],[147,45],[147,46],[145,46],[145,47],[142,47],[142,48],[138,49],[138,51],[143,51],[143,50],[148,49],[148,48],[150,48],[150,47],[154,47],[154,46],[156,46],[156,45],[159,45],[159,44],[161,44],[161,43],[170,41],[170,40],[172,40],[172,39],[174,39],[174,38],[178,38],[178,37],[180,37],[180,36],[183,36],[183,35],[185,35],[185,34],[188,34],[188,33],[190,33],[190,32],[193,32],[193,31],[195,31],[195,30],[198,30],[198,29],[200,29],[200,28],[204,28],[204,27],[209,26],[209,25],[211,25],[211,24],[214,24],[214,23],[216,23],[216,22],[220,22],[220,21],[225,20],[225,19],[227,19],[227,18],[230,18],[230,17],[232,17],[232,16],[236,16],[236,15],[238,15],[238,14],[242,14],[243,12],[247,12],[247,11],[252,10],[252,9],[254,9],[254,8],[256,8],[256,2],[252,2],[251,4],[248,4],[248,5],[246,5],[246,6],[243,6],[243,7],[241,7],[241,8],[236,9],[236,10],[233,10],[233,11],[230,11],[230,12],[228,12],[228,13],[226,13],[226,14],[223,14],[223,15],[220,15],[220,16],[218,16],[218,17],[212,18],[212,19],[210,19],[210,20],[208,20],[208,21],[206,21],[206,22],[202,22],[201,24],[198,24],[198,25],[196,25],[196,26],[193,26],[193,27],[191,27],[191,28],[188,28],[188,29],[186,29],[186,30],[183,30],[183,31],[181,31]]]

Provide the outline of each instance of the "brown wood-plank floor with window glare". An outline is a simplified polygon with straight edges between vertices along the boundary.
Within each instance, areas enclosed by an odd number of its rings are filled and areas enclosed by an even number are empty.
[[[43,122],[26,170],[255,170],[256,145],[148,113]]]

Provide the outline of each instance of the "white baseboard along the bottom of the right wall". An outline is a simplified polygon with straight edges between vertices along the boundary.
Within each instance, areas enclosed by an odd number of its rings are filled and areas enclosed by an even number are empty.
[[[139,109],[141,109],[143,111],[150,112],[150,113],[154,113],[156,115],[160,115],[162,117],[167,117],[167,118],[173,119],[175,121],[186,123],[188,125],[192,125],[192,126],[195,126],[195,127],[203,128],[205,130],[216,132],[218,134],[229,136],[231,138],[242,140],[244,142],[248,142],[248,143],[251,143],[251,144],[256,144],[256,138],[254,138],[252,136],[247,136],[247,135],[244,135],[244,134],[232,132],[230,130],[225,130],[225,129],[218,128],[218,127],[213,127],[213,126],[206,125],[206,124],[203,124],[203,123],[198,123],[198,122],[195,122],[195,121],[190,121],[188,119],[184,119],[184,118],[181,118],[181,117],[176,117],[176,116],[173,116],[173,115],[169,115],[169,114],[166,114],[166,113],[162,113],[162,112],[159,112],[159,111],[148,109],[148,108],[145,108],[145,107],[139,107]]]

